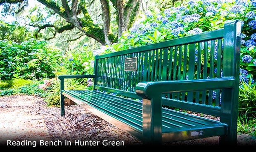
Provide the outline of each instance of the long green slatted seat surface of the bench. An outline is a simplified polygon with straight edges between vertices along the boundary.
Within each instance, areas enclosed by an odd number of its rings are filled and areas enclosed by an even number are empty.
[[[70,94],[72,97],[89,104],[103,113],[111,115],[116,120],[134,127],[142,133],[141,102],[98,91],[64,90],[63,93]],[[217,127],[221,129],[219,132],[224,133],[226,129],[226,124],[203,117],[197,117],[167,108],[162,108],[162,113],[163,136],[166,136],[170,132],[173,132],[173,134],[180,132],[181,134],[186,130],[191,132],[201,129],[201,131],[204,131],[211,127]],[[192,138],[194,137],[192,136]]]

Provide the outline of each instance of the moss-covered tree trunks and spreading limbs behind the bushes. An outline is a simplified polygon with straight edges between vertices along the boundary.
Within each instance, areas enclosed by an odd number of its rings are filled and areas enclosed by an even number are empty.
[[[85,0],[37,0],[51,11],[51,14],[57,14],[65,19],[62,25],[55,24],[34,24],[40,30],[52,27],[55,32],[62,33],[73,28],[79,29],[84,35],[91,37],[102,45],[111,44],[121,37],[124,31],[134,23],[135,18],[139,12],[142,0],[100,0],[101,4],[101,19],[102,25],[97,24],[89,14]],[[90,2],[90,1],[89,1]],[[3,4],[19,4],[16,12],[24,9],[28,5],[28,0],[0,0],[0,5]],[[111,10],[114,9],[114,10]],[[8,9],[8,7],[5,7]],[[114,12],[116,14],[116,25],[118,31],[116,33],[111,31],[111,17]],[[111,16],[112,15],[112,16]]]

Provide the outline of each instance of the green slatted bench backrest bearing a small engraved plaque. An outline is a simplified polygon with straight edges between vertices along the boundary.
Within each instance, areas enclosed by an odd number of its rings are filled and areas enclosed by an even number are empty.
[[[94,89],[140,99],[135,87],[141,81],[234,77],[238,86],[240,31],[232,21],[220,30],[96,56]],[[221,98],[223,90],[203,90],[163,94],[162,103],[220,116]]]

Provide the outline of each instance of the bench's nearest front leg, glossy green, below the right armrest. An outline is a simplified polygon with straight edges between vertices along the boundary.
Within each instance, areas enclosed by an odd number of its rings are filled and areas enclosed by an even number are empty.
[[[161,97],[159,99],[143,99],[142,102],[143,144],[145,145],[160,145],[162,143]]]

